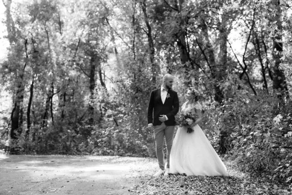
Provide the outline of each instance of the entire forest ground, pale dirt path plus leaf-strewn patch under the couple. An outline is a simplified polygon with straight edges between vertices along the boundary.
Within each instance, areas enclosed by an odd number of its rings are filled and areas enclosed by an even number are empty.
[[[292,186],[276,186],[238,171],[233,161],[223,162],[227,177],[154,178],[155,158],[0,154],[0,195],[290,195],[292,191]]]

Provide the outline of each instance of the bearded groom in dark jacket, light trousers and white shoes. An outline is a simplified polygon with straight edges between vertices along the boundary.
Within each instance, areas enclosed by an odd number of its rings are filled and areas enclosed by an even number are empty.
[[[153,176],[169,173],[169,155],[174,134],[174,116],[179,112],[179,98],[177,92],[171,89],[173,76],[166,74],[162,80],[162,86],[153,90],[148,105],[148,128],[153,130],[156,146],[156,156],[159,163],[159,171]],[[154,111],[154,113],[153,113]],[[164,170],[164,137],[167,148],[167,165]]]

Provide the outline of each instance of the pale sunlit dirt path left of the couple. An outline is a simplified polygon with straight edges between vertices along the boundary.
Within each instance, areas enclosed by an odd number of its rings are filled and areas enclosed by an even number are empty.
[[[0,195],[128,195],[145,163],[149,159],[2,155]]]

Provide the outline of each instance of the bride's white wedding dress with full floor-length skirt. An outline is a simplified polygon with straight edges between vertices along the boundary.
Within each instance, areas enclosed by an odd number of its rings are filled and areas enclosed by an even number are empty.
[[[195,108],[184,103],[182,114],[196,113],[202,110],[201,104]],[[186,174],[187,176],[227,176],[226,167],[210,144],[199,125],[193,127],[194,132],[187,133],[186,127],[179,127],[173,140],[169,173]]]

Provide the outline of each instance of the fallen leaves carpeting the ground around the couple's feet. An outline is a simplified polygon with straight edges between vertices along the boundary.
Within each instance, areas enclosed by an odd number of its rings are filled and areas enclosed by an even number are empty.
[[[234,161],[223,160],[228,176],[185,176],[170,175],[152,177],[154,168],[147,163],[140,169],[137,186],[130,189],[134,195],[290,195],[288,186],[275,185],[262,177],[250,176],[237,169]]]

